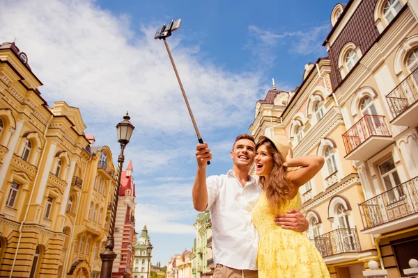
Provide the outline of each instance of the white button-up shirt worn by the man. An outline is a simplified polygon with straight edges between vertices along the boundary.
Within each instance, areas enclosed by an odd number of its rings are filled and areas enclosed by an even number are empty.
[[[251,211],[261,188],[253,177],[242,187],[233,170],[208,177],[206,186],[215,265],[255,270],[258,232],[251,222]]]

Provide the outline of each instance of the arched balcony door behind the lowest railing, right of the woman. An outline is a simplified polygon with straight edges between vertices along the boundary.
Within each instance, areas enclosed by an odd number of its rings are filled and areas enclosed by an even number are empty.
[[[334,235],[336,250],[338,253],[350,252],[355,250],[353,230],[350,228],[346,208],[343,204],[336,207],[336,220],[339,226],[337,233]]]

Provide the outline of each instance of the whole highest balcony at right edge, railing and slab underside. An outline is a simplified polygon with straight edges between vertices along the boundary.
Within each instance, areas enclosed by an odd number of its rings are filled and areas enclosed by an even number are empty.
[[[418,126],[418,68],[386,95],[396,126]]]

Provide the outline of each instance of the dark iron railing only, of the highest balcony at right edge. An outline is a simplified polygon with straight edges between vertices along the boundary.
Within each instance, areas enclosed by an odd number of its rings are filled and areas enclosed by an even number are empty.
[[[418,100],[418,68],[386,95],[390,112],[397,117]]]

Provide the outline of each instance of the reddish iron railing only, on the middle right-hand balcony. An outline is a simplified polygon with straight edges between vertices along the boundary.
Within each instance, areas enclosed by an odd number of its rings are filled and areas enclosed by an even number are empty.
[[[385,116],[364,115],[343,134],[344,146],[349,154],[371,136],[390,136]]]

